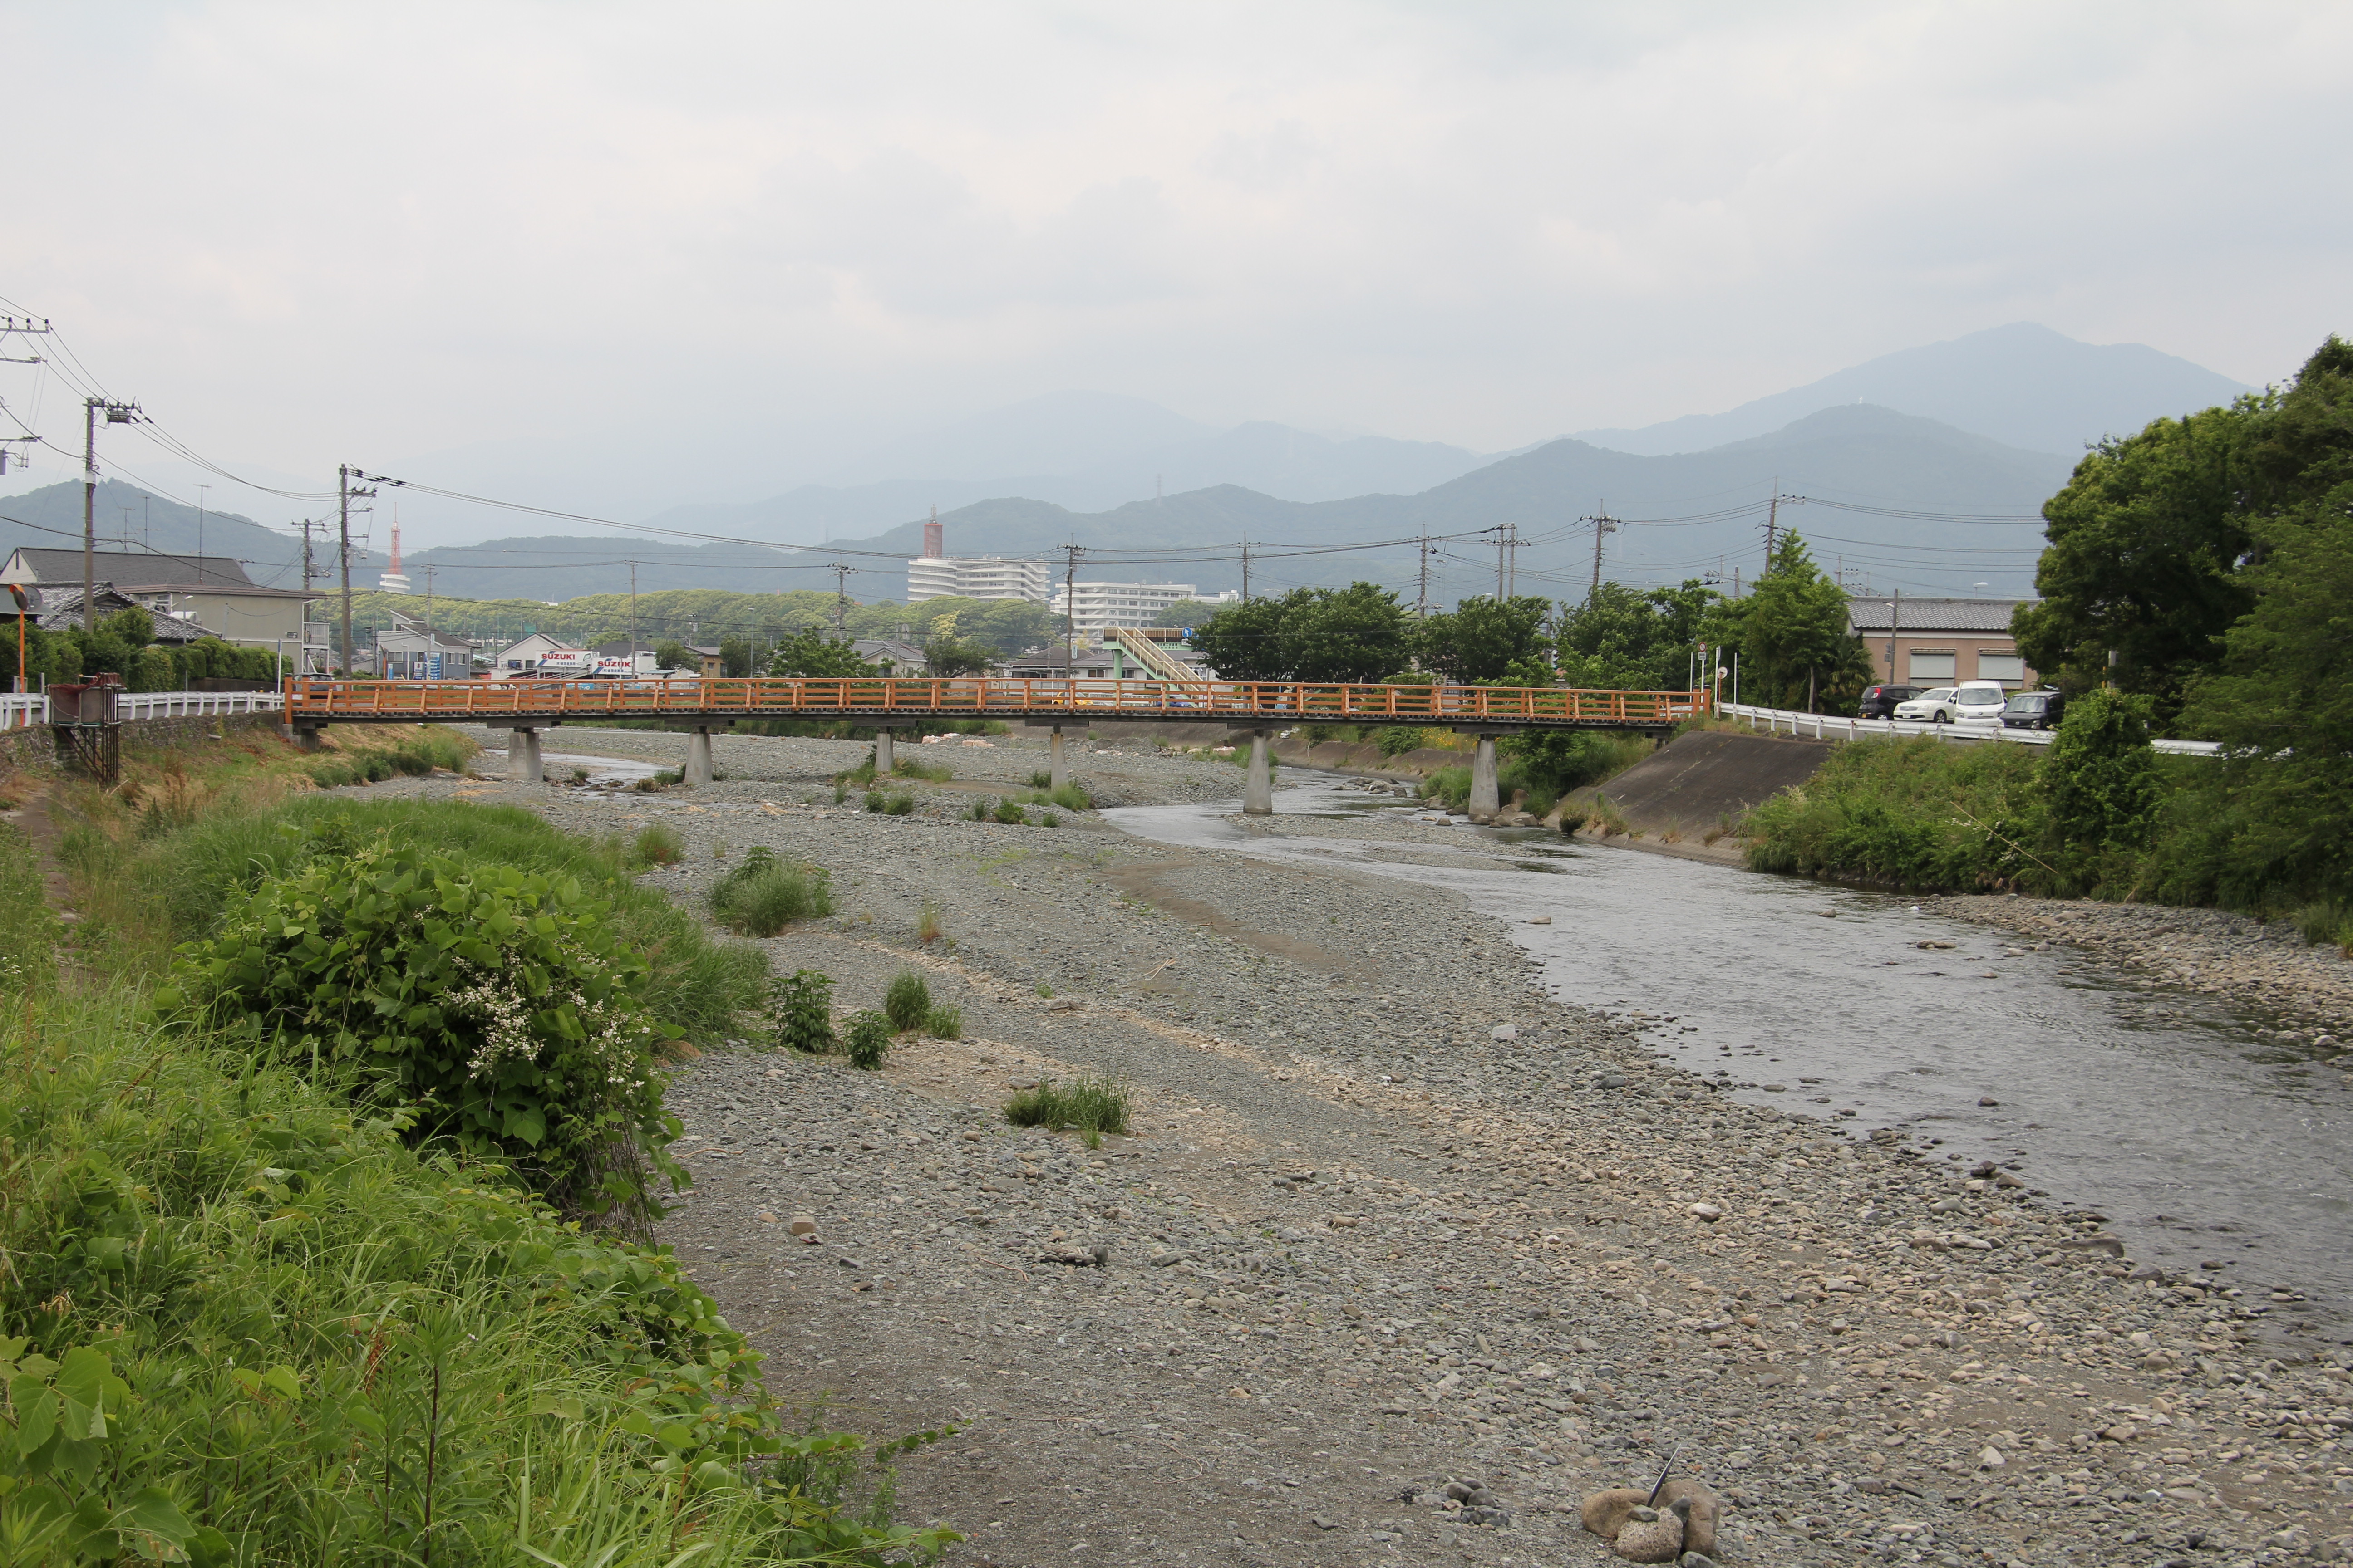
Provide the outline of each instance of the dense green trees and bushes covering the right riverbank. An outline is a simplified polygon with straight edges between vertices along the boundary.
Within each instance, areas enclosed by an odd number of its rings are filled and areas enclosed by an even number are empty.
[[[2085,684],[2049,750],[1838,748],[1748,816],[1751,865],[2219,905],[2353,943],[2353,346],[2101,444],[2047,517],[2019,639]],[[2108,649],[2115,691],[2087,684]],[[2224,752],[2155,755],[2162,729]]]

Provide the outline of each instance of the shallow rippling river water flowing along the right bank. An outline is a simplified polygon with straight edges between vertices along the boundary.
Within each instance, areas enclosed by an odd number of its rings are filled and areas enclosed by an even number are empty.
[[[1104,816],[1162,844],[1457,891],[1511,922],[1560,1001],[1652,1013],[1654,1046],[1741,1100],[1897,1126],[1932,1159],[2017,1161],[2106,1215],[2137,1260],[2221,1262],[2275,1321],[2353,1333],[2353,1088],[2261,1039],[2261,1018],[1899,896],[1471,825],[1466,849],[1506,842],[1513,860],[1414,865],[1384,858],[1395,842],[1247,835],[1235,811]],[[1339,783],[1285,790],[1275,811],[1421,816]]]

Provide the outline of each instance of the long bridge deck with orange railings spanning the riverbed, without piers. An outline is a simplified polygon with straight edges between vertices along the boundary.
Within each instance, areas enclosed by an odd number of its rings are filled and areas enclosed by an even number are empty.
[[[1325,686],[1165,679],[289,679],[287,724],[565,719],[922,719],[1174,724],[1424,724],[1461,729],[1666,729],[1706,691],[1565,686]]]

